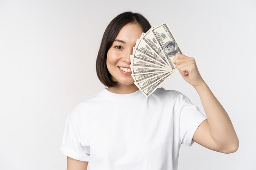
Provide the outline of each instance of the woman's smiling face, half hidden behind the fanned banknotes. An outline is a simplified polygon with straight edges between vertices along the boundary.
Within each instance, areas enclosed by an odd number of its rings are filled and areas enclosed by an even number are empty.
[[[136,40],[140,38],[142,29],[137,23],[124,25],[107,53],[107,68],[112,80],[118,84],[130,85],[134,82],[130,70],[130,55]],[[122,71],[125,69],[125,71]],[[127,68],[127,69],[126,69]],[[127,72],[128,71],[128,72]]]

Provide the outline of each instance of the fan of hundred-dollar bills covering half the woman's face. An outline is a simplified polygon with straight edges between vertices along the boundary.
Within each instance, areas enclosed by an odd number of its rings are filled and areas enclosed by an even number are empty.
[[[142,33],[130,55],[134,84],[148,97],[177,71],[173,57],[181,53],[167,23]]]

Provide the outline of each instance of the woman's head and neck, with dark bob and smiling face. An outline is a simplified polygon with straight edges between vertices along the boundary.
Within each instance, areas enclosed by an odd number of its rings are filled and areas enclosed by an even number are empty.
[[[99,80],[109,91],[124,94],[124,91],[117,89],[126,88],[125,93],[138,90],[130,76],[131,71],[127,72],[130,68],[130,55],[141,33],[150,28],[150,23],[143,15],[131,12],[119,14],[108,24],[101,40],[96,71]]]

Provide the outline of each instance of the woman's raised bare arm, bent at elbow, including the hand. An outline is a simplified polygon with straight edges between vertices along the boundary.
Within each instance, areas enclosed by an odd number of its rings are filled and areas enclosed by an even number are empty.
[[[225,109],[202,79],[195,59],[176,53],[173,63],[176,64],[186,82],[198,92],[207,117],[207,120],[198,126],[193,141],[218,152],[236,152],[239,140],[232,122]]]

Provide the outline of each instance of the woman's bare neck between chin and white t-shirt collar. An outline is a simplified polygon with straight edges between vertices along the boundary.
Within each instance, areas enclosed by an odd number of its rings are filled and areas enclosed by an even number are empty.
[[[114,87],[107,88],[107,90],[112,93],[124,95],[124,94],[134,93],[135,91],[139,90],[139,88],[137,88],[137,86],[135,86],[135,84],[124,85],[124,84],[118,83]]]

